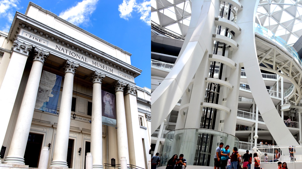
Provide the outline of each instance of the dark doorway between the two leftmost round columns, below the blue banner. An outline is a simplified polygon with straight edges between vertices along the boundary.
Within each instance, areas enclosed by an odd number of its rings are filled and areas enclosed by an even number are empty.
[[[25,165],[37,168],[43,142],[43,134],[29,133],[24,153]]]

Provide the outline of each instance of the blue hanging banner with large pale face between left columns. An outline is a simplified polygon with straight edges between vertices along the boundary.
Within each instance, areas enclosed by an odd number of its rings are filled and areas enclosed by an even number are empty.
[[[57,114],[62,76],[43,71],[35,109]]]

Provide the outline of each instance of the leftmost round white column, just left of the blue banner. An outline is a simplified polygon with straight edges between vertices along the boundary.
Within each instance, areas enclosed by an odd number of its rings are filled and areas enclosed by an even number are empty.
[[[3,163],[22,164],[39,89],[43,64],[49,52],[35,48],[33,65],[28,77],[7,157]]]

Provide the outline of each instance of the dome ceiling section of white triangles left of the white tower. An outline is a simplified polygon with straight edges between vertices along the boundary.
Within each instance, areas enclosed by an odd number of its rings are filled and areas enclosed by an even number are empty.
[[[161,30],[185,38],[191,20],[191,0],[151,0],[151,21]]]

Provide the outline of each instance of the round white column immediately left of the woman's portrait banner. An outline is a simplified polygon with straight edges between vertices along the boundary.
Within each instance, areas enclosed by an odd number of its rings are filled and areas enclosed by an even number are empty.
[[[105,75],[95,72],[91,77],[93,83],[92,91],[92,113],[91,113],[91,147],[94,169],[103,168],[103,143],[102,143],[102,94],[101,85]]]

